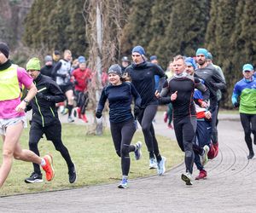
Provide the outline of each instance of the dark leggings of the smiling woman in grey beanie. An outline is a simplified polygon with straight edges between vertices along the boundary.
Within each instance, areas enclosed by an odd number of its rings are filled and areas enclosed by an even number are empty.
[[[135,122],[130,119],[121,123],[110,123],[110,130],[115,152],[121,157],[122,174],[128,176],[131,164],[129,153],[135,151],[135,146],[131,145],[131,139],[136,131]]]

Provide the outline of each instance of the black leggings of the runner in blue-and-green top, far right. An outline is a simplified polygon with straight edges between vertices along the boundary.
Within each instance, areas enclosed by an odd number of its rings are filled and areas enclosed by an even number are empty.
[[[247,147],[249,152],[253,153],[253,143],[256,144],[256,115],[240,113],[240,119]],[[251,133],[253,133],[253,140]]]

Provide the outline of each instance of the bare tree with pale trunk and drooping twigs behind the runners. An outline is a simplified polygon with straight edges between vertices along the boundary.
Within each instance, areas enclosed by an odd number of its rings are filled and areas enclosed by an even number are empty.
[[[121,1],[120,0],[85,0],[85,32],[89,41],[88,66],[93,71],[89,85],[90,101],[93,109],[102,92],[102,72],[119,57],[121,36]],[[102,120],[95,118],[94,127],[89,134],[102,135]]]

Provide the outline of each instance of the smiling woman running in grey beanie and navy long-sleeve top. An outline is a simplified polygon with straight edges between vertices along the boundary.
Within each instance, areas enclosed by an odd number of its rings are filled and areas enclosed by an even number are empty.
[[[113,145],[121,158],[122,181],[119,188],[128,187],[128,175],[131,159],[129,153],[134,152],[135,158],[141,158],[142,142],[131,145],[131,139],[136,131],[135,120],[131,114],[132,97],[135,99],[135,114],[141,106],[141,97],[131,83],[122,82],[122,70],[117,64],[108,69],[109,85],[102,90],[102,95],[96,110],[96,118],[102,117],[102,110],[108,99],[110,130]]]

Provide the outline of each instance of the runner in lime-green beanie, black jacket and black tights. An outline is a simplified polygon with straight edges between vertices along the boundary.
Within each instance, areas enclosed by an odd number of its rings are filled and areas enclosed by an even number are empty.
[[[37,86],[38,94],[26,106],[26,111],[32,109],[31,129],[29,132],[29,148],[39,156],[38,142],[46,136],[48,141],[52,141],[55,149],[61,153],[68,168],[69,182],[73,183],[77,179],[75,165],[73,164],[67,147],[61,141],[61,122],[55,103],[65,100],[65,95],[51,78],[40,73],[40,60],[32,58],[26,64],[26,72],[33,78]],[[32,175],[25,179],[26,183],[42,182],[42,174],[38,164],[33,164]]]

